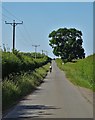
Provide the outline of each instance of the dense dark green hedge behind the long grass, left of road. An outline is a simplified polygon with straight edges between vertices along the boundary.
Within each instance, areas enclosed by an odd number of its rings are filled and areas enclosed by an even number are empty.
[[[8,77],[9,74],[19,73],[20,71],[33,71],[35,68],[45,65],[48,60],[47,56],[34,59],[23,53],[2,52],[2,77]]]

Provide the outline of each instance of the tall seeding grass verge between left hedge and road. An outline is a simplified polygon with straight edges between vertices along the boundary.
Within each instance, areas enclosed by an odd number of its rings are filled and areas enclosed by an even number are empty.
[[[15,105],[24,96],[33,92],[43,82],[48,70],[49,63],[33,72],[29,71],[17,75],[15,80],[6,78],[2,82],[3,112]]]

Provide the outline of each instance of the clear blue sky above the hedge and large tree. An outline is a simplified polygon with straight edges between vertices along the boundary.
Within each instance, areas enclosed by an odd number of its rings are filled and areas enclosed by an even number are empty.
[[[0,12],[1,14],[1,12]],[[34,52],[32,45],[40,45],[37,52],[48,51],[55,57],[49,46],[48,35],[59,28],[76,28],[83,33],[83,48],[86,56],[93,54],[93,3],[92,2],[3,2],[2,43],[12,49],[12,26],[16,26],[16,49]]]

